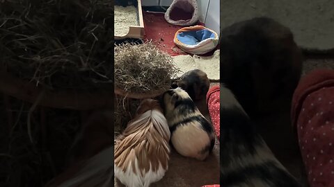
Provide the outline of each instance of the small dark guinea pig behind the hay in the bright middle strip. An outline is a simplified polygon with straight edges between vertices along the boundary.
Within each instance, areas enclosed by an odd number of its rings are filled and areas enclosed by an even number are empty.
[[[180,87],[189,94],[194,101],[205,99],[207,91],[209,91],[210,81],[207,73],[200,69],[193,69],[184,73],[180,80],[173,81],[171,88]]]

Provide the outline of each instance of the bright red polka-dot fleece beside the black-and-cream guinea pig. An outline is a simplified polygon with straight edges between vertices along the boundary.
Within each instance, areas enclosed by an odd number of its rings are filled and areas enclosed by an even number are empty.
[[[207,107],[209,108],[209,114],[211,117],[212,125],[214,125],[214,132],[216,133],[216,136],[220,137],[220,102],[221,102],[221,91],[220,86],[216,85],[214,87],[211,87],[209,91],[207,92]]]

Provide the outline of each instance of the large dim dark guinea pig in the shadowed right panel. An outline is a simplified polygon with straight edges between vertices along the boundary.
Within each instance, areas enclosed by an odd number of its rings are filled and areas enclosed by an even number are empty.
[[[221,82],[250,116],[289,103],[302,69],[289,28],[267,17],[241,21],[221,30],[220,46]]]

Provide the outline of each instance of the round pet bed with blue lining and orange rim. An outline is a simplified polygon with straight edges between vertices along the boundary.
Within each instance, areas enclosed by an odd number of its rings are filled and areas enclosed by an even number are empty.
[[[174,43],[186,53],[202,55],[216,48],[218,35],[205,26],[189,26],[177,30]]]

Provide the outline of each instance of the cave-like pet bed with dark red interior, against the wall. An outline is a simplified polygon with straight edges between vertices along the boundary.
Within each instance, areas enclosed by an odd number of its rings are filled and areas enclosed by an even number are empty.
[[[198,21],[196,0],[174,0],[165,12],[165,19],[175,26],[191,26]]]

